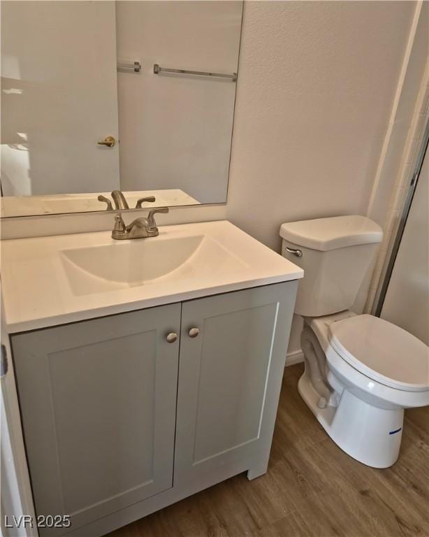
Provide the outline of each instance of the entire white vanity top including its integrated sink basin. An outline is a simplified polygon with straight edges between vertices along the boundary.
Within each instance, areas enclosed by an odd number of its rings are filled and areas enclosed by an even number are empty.
[[[302,277],[226,221],[125,241],[111,231],[1,241],[10,334]]]

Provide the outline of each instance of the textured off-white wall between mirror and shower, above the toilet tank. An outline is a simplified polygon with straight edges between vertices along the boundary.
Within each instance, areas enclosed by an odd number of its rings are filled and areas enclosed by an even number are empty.
[[[414,2],[245,4],[228,217],[279,249],[282,222],[365,214]]]

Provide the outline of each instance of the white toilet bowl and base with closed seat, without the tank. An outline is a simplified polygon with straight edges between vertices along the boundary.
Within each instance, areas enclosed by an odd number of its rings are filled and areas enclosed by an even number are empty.
[[[301,342],[298,391],[330,438],[368,466],[394,464],[404,408],[429,404],[426,345],[378,317],[351,312],[305,319]]]

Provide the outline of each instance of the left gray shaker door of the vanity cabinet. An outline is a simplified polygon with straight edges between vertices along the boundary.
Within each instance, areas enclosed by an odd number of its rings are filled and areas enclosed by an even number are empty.
[[[13,337],[38,515],[76,529],[172,487],[180,308]]]

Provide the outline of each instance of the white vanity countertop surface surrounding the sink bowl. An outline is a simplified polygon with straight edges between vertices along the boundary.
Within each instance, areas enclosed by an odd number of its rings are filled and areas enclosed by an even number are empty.
[[[64,255],[61,258],[61,252],[108,247],[109,252],[117,248],[116,259],[120,260],[122,252],[129,250],[124,249],[124,243],[170,241],[171,245],[171,241],[189,237],[201,239],[189,260],[180,269],[145,283],[122,282],[110,288],[109,280],[73,268],[82,273],[81,280],[89,278],[88,285],[94,281],[94,292],[91,289],[85,294],[73,290]],[[222,251],[228,255],[226,261]],[[193,265],[193,259],[198,259],[198,265]],[[296,280],[303,274],[300,267],[224,220],[164,226],[159,228],[158,237],[132,241],[115,241],[110,231],[1,241],[1,287],[9,333]]]

